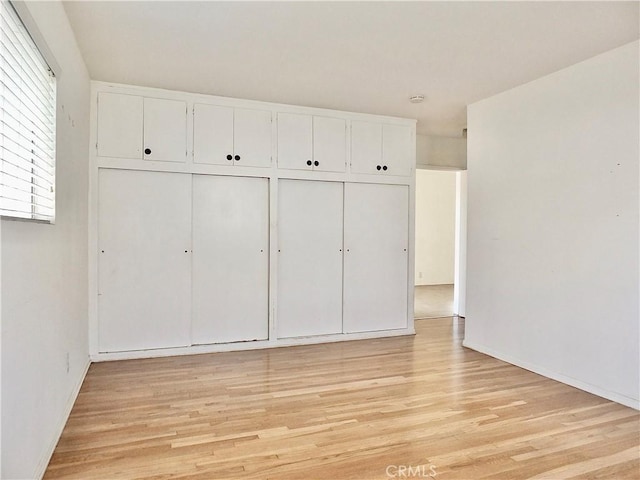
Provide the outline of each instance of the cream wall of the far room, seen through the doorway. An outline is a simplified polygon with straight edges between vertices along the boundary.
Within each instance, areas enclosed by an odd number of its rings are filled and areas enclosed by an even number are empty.
[[[453,283],[456,172],[416,170],[416,285]]]

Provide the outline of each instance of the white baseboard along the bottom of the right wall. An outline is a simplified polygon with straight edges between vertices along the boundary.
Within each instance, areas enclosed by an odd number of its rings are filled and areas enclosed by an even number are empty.
[[[537,373],[538,375],[542,375],[543,377],[556,380],[560,383],[564,383],[580,390],[584,390],[585,392],[593,393],[594,395],[606,398],[607,400],[611,400],[612,402],[620,403],[626,407],[640,410],[640,399],[627,397],[626,395],[622,395],[617,392],[611,392],[609,390],[598,387],[597,385],[592,385],[590,383],[586,383],[572,377],[567,377],[566,375],[553,372],[544,367],[541,367],[540,365],[525,362],[520,360],[519,358],[512,357],[511,355],[505,355],[504,353],[497,352],[491,348],[485,347],[484,345],[469,342],[466,339],[462,342],[462,345],[464,347],[470,348],[471,350],[484,353],[485,355],[489,355],[490,357],[497,358],[498,360],[502,360],[520,368],[524,368],[525,370],[529,370],[530,372]]]

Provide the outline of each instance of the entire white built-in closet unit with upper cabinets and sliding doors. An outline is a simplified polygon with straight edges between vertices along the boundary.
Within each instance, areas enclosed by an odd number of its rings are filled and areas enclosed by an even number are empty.
[[[413,333],[415,121],[93,100],[94,360]]]

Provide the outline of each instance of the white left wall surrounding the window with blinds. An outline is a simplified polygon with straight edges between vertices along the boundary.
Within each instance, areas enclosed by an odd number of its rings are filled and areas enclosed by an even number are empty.
[[[30,13],[60,67],[57,214],[55,225],[2,221],[3,479],[41,476],[89,359],[89,76],[61,3],[19,9]]]

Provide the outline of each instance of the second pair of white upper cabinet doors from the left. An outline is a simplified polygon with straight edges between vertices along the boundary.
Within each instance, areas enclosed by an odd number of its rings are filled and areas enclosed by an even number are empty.
[[[271,166],[271,112],[196,104],[193,161],[211,165]]]

